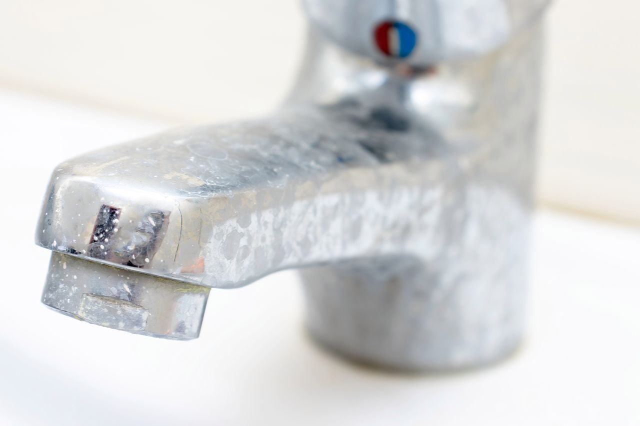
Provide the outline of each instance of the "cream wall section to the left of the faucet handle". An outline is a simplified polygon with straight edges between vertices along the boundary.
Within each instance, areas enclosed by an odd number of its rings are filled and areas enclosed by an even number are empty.
[[[304,43],[297,0],[0,0],[0,83],[156,114],[271,109]]]

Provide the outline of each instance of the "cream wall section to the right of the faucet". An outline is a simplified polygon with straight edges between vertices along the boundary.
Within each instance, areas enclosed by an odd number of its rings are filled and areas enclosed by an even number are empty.
[[[543,201],[640,223],[640,3],[561,0],[548,21]]]

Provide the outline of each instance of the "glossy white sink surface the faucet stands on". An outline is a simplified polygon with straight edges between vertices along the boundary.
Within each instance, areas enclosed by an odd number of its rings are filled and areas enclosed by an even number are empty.
[[[550,210],[536,214],[525,345],[474,372],[326,354],[289,271],[212,291],[191,342],[47,310],[33,234],[53,166],[171,124],[0,90],[0,424],[640,424],[640,230]]]

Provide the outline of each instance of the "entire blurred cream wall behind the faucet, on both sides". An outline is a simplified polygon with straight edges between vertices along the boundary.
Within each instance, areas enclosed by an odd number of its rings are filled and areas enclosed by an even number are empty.
[[[640,223],[638,16],[628,0],[552,6],[543,203]],[[304,28],[297,0],[4,0],[0,84],[168,125],[232,120],[282,99]]]

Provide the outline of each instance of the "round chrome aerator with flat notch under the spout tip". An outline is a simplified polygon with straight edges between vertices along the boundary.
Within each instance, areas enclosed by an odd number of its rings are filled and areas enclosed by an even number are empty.
[[[42,303],[99,326],[154,337],[198,337],[209,287],[52,253]]]

